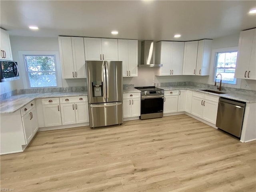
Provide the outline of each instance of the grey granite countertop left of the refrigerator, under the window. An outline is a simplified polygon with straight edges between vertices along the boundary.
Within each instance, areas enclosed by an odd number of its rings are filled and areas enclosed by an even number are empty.
[[[31,93],[31,94],[18,94],[11,96],[8,99],[1,100],[0,113],[12,113],[34,99],[40,98],[53,98],[53,97],[70,97],[70,96],[87,96],[87,91],[78,92],[50,92],[50,93]]]

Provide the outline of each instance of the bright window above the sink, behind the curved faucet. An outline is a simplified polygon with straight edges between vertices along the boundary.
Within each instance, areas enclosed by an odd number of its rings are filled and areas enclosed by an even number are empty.
[[[237,52],[217,52],[214,68],[214,81],[217,74],[222,75],[222,83],[236,84],[234,78],[236,70],[236,56]],[[220,82],[220,75],[216,80]]]

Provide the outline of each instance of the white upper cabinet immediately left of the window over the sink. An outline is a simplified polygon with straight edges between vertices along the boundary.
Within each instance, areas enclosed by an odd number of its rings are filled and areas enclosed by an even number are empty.
[[[209,75],[210,59],[212,52],[212,40],[204,39],[198,41],[198,51],[196,60],[196,75]]]

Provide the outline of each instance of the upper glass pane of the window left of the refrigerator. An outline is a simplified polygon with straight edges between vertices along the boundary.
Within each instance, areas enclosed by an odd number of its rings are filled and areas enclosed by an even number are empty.
[[[54,56],[26,56],[29,72],[55,71]]]

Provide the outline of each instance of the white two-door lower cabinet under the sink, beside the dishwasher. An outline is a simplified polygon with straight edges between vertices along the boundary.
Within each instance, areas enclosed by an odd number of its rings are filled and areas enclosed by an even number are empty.
[[[216,124],[218,112],[218,96],[193,92],[191,114]]]

